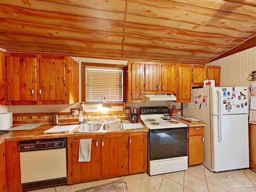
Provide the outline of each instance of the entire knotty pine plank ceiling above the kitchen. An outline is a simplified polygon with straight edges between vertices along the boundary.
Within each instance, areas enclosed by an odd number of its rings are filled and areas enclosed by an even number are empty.
[[[206,64],[255,34],[255,0],[0,0],[8,52]]]

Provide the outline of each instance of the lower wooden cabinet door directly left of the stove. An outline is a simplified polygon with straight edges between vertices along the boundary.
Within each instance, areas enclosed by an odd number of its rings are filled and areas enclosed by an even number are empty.
[[[129,174],[147,171],[147,132],[129,135]]]

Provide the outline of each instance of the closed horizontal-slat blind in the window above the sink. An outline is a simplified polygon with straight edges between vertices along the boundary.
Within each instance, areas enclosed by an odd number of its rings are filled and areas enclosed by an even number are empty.
[[[123,102],[123,71],[86,68],[86,102]]]

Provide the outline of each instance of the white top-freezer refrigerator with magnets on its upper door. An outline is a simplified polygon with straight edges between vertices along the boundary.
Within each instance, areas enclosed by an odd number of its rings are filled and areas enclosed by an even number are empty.
[[[249,167],[248,87],[192,89],[182,116],[200,119],[204,127],[204,163],[219,172]]]

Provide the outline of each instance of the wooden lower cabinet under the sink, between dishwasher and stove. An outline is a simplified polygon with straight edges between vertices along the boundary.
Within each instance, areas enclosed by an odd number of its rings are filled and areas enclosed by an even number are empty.
[[[81,139],[92,138],[90,162],[78,162]],[[68,184],[146,172],[147,132],[68,138]]]

